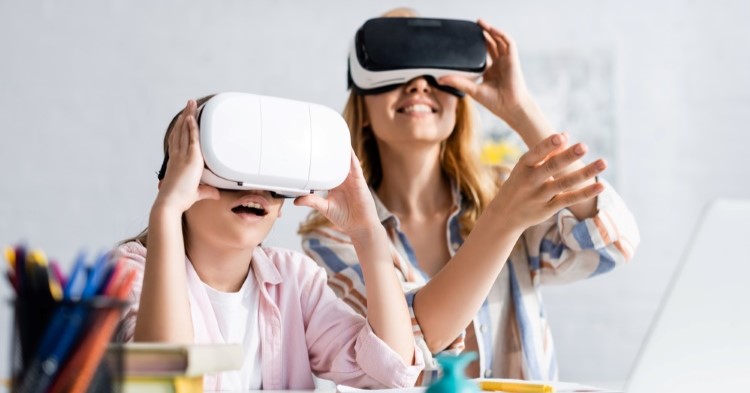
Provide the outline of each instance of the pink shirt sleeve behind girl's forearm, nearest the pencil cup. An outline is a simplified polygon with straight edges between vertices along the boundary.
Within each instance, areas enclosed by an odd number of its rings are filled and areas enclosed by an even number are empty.
[[[127,298],[127,306],[120,317],[120,323],[115,332],[116,342],[132,342],[135,334],[135,320],[138,316],[138,304],[143,289],[143,270],[146,265],[146,248],[140,243],[130,242],[117,247],[113,251],[114,258],[123,259],[125,266],[136,271],[133,286]]]

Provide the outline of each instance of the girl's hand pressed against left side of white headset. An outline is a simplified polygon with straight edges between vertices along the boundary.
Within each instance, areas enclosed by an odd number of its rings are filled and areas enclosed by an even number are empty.
[[[188,101],[169,135],[169,161],[154,205],[183,213],[202,199],[219,199],[219,190],[200,184],[203,154],[196,123],[197,106]]]

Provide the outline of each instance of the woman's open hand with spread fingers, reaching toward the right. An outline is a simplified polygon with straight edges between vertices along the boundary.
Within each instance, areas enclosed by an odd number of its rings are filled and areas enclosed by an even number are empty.
[[[567,147],[567,139],[565,133],[551,135],[521,156],[489,209],[522,231],[604,191],[601,183],[585,184],[606,169],[602,159],[562,174],[587,150],[582,143]]]

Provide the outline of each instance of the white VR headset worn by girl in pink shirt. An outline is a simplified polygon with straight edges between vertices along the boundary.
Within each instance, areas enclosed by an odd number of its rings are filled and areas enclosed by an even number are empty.
[[[220,189],[296,197],[335,188],[349,173],[349,128],[322,105],[221,93],[201,107],[198,123],[205,161],[201,182]]]

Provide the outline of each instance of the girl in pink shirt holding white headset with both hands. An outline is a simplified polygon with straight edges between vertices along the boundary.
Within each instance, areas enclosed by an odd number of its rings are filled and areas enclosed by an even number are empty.
[[[117,250],[142,278],[119,338],[242,343],[242,370],[207,376],[207,390],[312,389],[313,373],[360,387],[414,385],[421,355],[354,154],[347,179],[327,198],[307,195],[295,204],[317,209],[351,237],[368,282],[367,319],[336,298],[307,257],[260,246],[282,199],[199,183],[204,164],[195,119],[208,98],[190,100],[172,120],[149,227]]]

